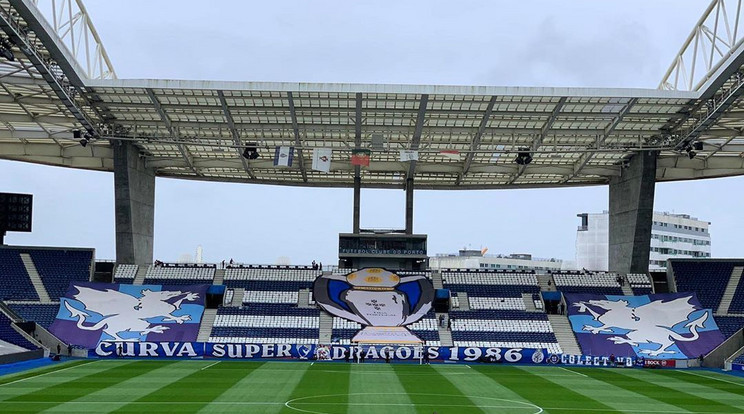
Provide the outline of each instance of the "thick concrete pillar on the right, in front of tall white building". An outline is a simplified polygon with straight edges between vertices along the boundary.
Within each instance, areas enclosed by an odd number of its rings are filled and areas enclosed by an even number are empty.
[[[655,151],[638,153],[620,177],[610,178],[611,272],[648,272],[658,155]]]

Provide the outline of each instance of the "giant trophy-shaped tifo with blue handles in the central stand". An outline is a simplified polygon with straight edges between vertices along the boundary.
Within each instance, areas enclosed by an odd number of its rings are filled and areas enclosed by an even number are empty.
[[[315,301],[328,313],[364,325],[352,342],[420,343],[405,325],[431,309],[434,287],[422,275],[398,276],[382,268],[315,279]]]

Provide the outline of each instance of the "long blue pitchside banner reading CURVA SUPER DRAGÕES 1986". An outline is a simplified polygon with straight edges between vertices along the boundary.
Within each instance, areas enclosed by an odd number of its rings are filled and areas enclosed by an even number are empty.
[[[224,344],[203,342],[100,342],[98,358],[224,358],[317,361],[439,361],[541,364],[543,349],[392,345]]]

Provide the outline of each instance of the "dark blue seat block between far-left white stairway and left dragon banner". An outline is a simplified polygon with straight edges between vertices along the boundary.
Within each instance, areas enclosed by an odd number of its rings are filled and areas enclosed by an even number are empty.
[[[29,250],[36,270],[52,300],[64,296],[70,282],[87,282],[93,263],[92,250]]]

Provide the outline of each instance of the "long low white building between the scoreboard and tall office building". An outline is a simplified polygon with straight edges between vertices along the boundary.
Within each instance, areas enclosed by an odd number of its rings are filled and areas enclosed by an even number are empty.
[[[560,259],[540,259],[531,254],[485,254],[481,250],[460,250],[458,254],[438,254],[429,258],[430,269],[548,270],[575,269]]]

